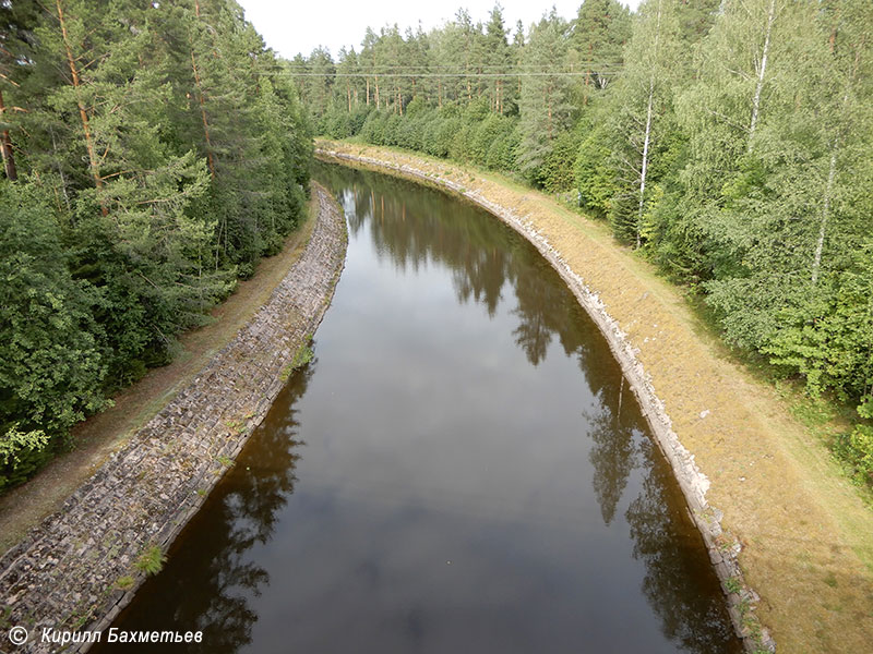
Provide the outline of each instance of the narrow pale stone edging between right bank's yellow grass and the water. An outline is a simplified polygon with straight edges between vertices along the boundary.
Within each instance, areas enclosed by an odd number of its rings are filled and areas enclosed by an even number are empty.
[[[639,361],[638,349],[634,347],[627,334],[621,329],[619,322],[610,315],[599,294],[586,284],[585,280],[573,269],[562,253],[550,243],[549,239],[540,232],[534,221],[507,206],[490,199],[481,191],[470,187],[470,178],[451,179],[433,168],[426,170],[406,162],[340,152],[326,146],[316,147],[315,155],[325,161],[370,168],[417,180],[428,185],[449,189],[500,218],[539,250],[600,328],[613,355],[619,361],[661,451],[672,467],[692,519],[703,535],[710,560],[727,595],[731,621],[738,637],[743,641],[745,651],[775,651],[775,642],[761,627],[754,615],[754,605],[760,598],[743,581],[743,573],[738,561],[740,544],[726,537],[721,529],[721,512],[710,506],[706,499],[709,480],[701,472],[694,456],[683,446],[673,429],[665,403],[656,393],[650,377]],[[446,168],[446,170],[450,169]]]

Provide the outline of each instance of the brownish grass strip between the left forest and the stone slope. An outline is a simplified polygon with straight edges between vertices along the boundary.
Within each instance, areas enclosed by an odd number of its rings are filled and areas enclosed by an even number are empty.
[[[73,428],[72,451],[57,457],[34,479],[0,495],[0,553],[17,543],[45,517],[57,511],[128,438],[147,423],[224,348],[270,299],[300,257],[315,223],[313,194],[303,223],[285,241],[282,252],[261,261],[255,274],[211,312],[212,322],[179,338],[179,353],[164,367],[151,370],[112,398],[115,405]]]

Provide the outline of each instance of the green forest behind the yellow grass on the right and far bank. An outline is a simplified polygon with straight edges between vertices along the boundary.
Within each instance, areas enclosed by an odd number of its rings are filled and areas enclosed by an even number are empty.
[[[851,408],[873,482],[873,3],[584,0],[367,28],[289,64],[318,134],[500,171],[606,221],[727,343]]]

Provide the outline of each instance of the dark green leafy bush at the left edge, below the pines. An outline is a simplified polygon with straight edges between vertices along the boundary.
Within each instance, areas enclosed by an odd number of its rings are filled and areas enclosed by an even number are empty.
[[[70,275],[44,196],[0,181],[0,488],[26,479],[49,443],[106,404],[96,295]]]

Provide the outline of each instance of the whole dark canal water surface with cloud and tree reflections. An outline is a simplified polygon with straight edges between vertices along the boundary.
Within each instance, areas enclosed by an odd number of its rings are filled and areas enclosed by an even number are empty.
[[[316,177],[350,230],[316,356],[116,626],[203,630],[174,649],[210,653],[739,652],[557,274],[435,191]]]

